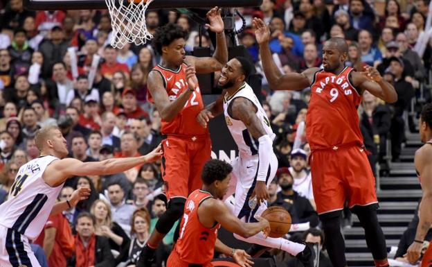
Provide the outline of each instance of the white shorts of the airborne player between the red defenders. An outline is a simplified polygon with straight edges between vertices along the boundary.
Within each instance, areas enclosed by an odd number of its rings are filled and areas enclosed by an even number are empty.
[[[237,218],[244,219],[246,222],[256,222],[255,215],[261,215],[267,209],[267,201],[256,205],[254,209],[249,207],[249,198],[255,188],[255,183],[258,175],[258,155],[251,157],[236,157],[231,166],[233,173],[231,174],[230,188],[226,193],[226,198],[235,193],[234,215]],[[267,171],[267,188],[278,171],[278,159],[274,153],[270,155],[269,171]]]

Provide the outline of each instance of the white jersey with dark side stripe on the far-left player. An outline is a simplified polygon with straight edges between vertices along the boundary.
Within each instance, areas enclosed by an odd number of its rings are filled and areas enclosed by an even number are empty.
[[[44,228],[63,184],[50,187],[42,174],[57,157],[46,155],[19,168],[8,200],[0,205],[0,225],[13,229],[28,239],[36,239]],[[6,216],[7,214],[7,216]]]

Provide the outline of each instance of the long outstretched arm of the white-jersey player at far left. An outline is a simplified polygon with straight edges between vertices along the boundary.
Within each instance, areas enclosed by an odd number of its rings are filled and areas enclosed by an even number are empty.
[[[44,172],[45,182],[56,187],[73,175],[108,175],[127,171],[139,164],[154,162],[162,155],[161,145],[141,157],[120,157],[102,162],[81,162],[73,158],[55,160]]]

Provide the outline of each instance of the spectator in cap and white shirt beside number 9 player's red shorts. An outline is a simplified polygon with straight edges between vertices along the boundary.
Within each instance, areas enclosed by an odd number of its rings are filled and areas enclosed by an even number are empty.
[[[293,189],[300,196],[304,196],[309,199],[312,206],[314,203],[314,191],[312,189],[312,178],[307,172],[307,153],[301,148],[296,148],[291,151],[291,158],[289,160],[289,173],[294,178]]]

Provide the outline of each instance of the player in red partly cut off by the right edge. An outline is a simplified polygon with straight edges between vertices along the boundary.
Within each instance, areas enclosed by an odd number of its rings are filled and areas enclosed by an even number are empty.
[[[417,169],[420,183],[422,184],[422,202],[420,203],[419,217],[420,221],[417,225],[415,239],[407,250],[408,261],[411,264],[420,257],[422,252],[424,236],[431,229],[432,225],[432,104],[426,104],[423,107],[420,116],[420,137],[422,142],[425,142],[421,148],[415,152],[414,164]],[[421,179],[420,179],[421,178]],[[424,253],[422,259],[422,267],[432,265],[432,246]]]

